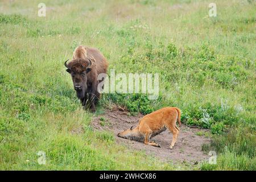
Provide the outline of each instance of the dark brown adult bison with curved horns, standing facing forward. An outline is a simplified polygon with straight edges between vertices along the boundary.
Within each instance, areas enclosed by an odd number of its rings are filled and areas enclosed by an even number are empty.
[[[68,60],[67,60],[68,61]],[[100,73],[106,73],[108,61],[102,53],[96,48],[79,46],[73,53],[72,61],[64,65],[66,71],[71,74],[76,95],[83,106],[89,105],[95,112],[95,104],[100,98],[97,91],[97,77]]]

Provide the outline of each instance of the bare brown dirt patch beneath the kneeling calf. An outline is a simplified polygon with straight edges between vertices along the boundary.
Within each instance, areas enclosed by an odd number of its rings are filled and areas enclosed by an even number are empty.
[[[208,155],[203,153],[201,146],[204,143],[209,143],[210,139],[196,135],[198,131],[207,131],[203,129],[189,128],[182,125],[180,127],[179,137],[172,150],[169,149],[172,134],[168,129],[153,138],[156,143],[160,144],[161,148],[147,146],[142,142],[117,137],[120,131],[129,129],[131,126],[136,126],[139,118],[143,117],[142,114],[136,116],[129,116],[129,114],[127,114],[127,111],[118,108],[107,110],[105,114],[94,117],[92,126],[97,130],[113,131],[117,143],[125,144],[133,150],[143,150],[146,154],[154,155],[163,161],[172,160],[174,163],[189,162],[194,164],[209,158]]]

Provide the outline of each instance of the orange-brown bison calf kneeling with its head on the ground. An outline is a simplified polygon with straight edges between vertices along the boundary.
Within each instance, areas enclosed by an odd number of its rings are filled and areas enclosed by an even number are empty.
[[[176,126],[176,122],[181,125],[180,109],[177,107],[164,107],[145,115],[136,127],[131,127],[131,129],[118,133],[118,137],[143,141],[145,144],[160,147],[159,144],[150,141],[150,138],[160,134],[167,128],[173,135],[170,145],[170,148],[172,148],[179,135],[179,128]]]

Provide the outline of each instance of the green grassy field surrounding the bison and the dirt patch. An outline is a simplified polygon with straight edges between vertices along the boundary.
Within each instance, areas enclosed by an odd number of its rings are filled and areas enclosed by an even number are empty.
[[[0,2],[0,169],[255,170],[254,1],[44,0]],[[116,73],[159,73],[160,96],[104,94],[131,113],[177,106],[181,122],[208,128],[217,164],[163,163],[93,131],[64,61],[97,47]],[[39,151],[46,165],[39,165]]]

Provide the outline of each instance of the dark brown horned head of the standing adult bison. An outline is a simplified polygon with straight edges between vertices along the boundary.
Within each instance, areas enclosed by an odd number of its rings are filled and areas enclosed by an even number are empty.
[[[92,61],[87,58],[75,59],[68,64],[67,61],[64,63],[67,67],[66,71],[71,74],[77,97],[82,99],[85,97],[85,91],[87,90],[87,74],[91,71]]]

